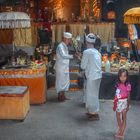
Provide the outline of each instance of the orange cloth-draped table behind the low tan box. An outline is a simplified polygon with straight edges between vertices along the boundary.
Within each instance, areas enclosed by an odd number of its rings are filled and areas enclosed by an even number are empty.
[[[28,86],[30,104],[43,104],[46,101],[46,68],[1,69],[0,86]]]

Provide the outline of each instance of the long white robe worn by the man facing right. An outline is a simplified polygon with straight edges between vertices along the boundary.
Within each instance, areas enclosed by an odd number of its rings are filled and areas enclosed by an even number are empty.
[[[69,55],[68,48],[64,42],[61,42],[56,50],[56,91],[68,91],[70,85],[69,78],[69,60],[73,58]]]

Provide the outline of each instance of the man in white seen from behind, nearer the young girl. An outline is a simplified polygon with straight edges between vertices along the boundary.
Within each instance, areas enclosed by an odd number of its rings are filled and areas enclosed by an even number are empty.
[[[99,88],[102,78],[101,54],[94,48],[96,35],[90,33],[86,36],[87,49],[83,52],[81,68],[85,70],[86,82],[86,109],[87,115],[92,119],[99,119]]]

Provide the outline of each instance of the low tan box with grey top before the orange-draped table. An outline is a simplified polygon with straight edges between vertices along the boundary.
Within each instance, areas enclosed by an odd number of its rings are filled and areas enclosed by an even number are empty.
[[[24,120],[29,108],[27,87],[0,87],[0,119]]]

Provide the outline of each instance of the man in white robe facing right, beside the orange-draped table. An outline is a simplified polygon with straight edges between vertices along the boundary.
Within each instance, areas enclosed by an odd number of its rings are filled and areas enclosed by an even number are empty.
[[[65,101],[65,92],[69,90],[70,77],[69,77],[69,60],[73,58],[69,55],[68,45],[71,42],[72,34],[64,32],[63,41],[58,45],[56,50],[56,92],[59,101]]]

